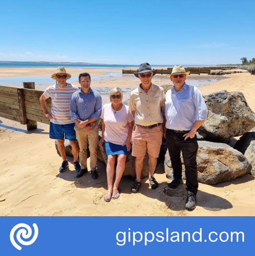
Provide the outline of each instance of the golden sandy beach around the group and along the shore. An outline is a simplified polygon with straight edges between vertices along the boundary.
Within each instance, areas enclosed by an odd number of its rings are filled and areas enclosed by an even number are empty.
[[[55,67],[0,68],[0,77],[50,76],[54,70]],[[68,68],[67,71],[72,75],[83,72],[77,68]],[[109,72],[102,71],[102,68],[86,71],[92,75]],[[156,75],[153,83],[165,83],[158,78],[160,76]],[[255,76],[235,73],[225,77],[200,86],[199,90],[202,93],[240,91],[255,111]],[[138,79],[97,81],[92,87],[127,87],[138,83]],[[59,173],[62,159],[54,140],[49,139],[49,126],[37,123],[37,127],[34,131],[27,131],[26,126],[0,117],[0,216],[255,216],[255,178],[252,175],[216,186],[199,183],[197,208],[190,212],[184,208],[185,185],[174,191],[168,189],[169,180],[162,163],[155,172],[159,188],[151,190],[145,178],[140,192],[132,194],[130,186],[133,181],[123,178],[120,198],[106,203],[103,198],[107,189],[106,166],[98,162],[100,175],[97,180],[93,180],[90,173],[76,179],[73,160],[68,157],[70,169]]]

